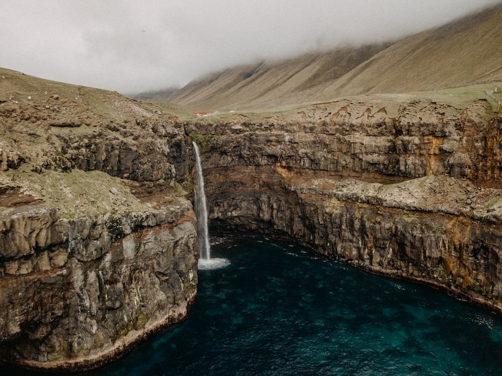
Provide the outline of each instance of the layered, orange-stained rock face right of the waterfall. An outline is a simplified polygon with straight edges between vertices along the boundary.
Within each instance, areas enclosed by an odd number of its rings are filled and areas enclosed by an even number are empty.
[[[502,122],[490,111],[339,101],[281,121],[201,121],[212,226],[288,236],[502,310]]]

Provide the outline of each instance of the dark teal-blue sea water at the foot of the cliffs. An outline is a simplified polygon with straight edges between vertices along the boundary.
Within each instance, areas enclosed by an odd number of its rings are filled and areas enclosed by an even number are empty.
[[[221,240],[221,239],[220,239]],[[227,239],[188,320],[81,375],[500,375],[502,320],[301,247]]]

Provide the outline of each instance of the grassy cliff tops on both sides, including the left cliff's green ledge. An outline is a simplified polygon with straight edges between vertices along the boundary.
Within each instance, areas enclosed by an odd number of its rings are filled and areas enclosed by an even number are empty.
[[[386,118],[404,116],[411,121],[436,121],[438,114],[456,119],[467,109],[471,118],[486,122],[500,115],[496,100],[486,94],[495,87],[502,87],[502,81],[406,94],[344,96],[324,103],[196,117],[176,104],[143,103],[116,92],[0,68],[0,209],[5,213],[21,204],[44,204],[71,218],[88,211],[152,210],[159,201],[186,194],[168,179],[160,183],[164,186],[160,194],[139,199],[137,193],[145,190],[146,183],[132,190],[130,180],[112,177],[104,170],[84,172],[73,166],[62,172],[54,168],[64,165],[67,158],[61,140],[70,140],[67,146],[94,138],[96,145],[118,140],[136,147],[145,140],[157,139],[162,144],[175,135],[184,137],[183,121],[229,126],[329,121],[341,110],[349,112],[347,121],[357,122],[364,114],[383,113]],[[493,95],[502,99],[502,93]],[[159,182],[155,184],[154,191],[159,191]]]

